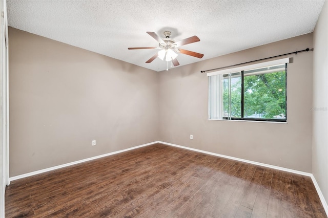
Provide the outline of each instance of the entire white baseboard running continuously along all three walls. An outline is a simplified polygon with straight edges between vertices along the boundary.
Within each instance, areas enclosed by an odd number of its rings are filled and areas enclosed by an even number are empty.
[[[167,142],[162,142],[162,141],[150,142],[150,143],[147,143],[147,144],[138,145],[138,146],[130,147],[130,148],[127,148],[127,149],[110,152],[108,154],[99,155],[99,156],[95,156],[95,157],[91,157],[91,158],[87,158],[87,159],[83,159],[83,160],[79,160],[79,161],[74,161],[74,162],[67,163],[67,164],[61,164],[61,165],[58,165],[58,166],[54,166],[54,167],[50,167],[50,168],[46,168],[46,169],[42,169],[42,170],[37,170],[37,171],[34,171],[34,172],[25,173],[23,175],[19,175],[19,176],[15,176],[15,177],[10,177],[9,182],[14,181],[14,180],[18,180],[18,179],[22,179],[22,178],[25,178],[25,177],[34,176],[34,175],[37,175],[39,173],[48,172],[48,171],[51,171],[51,170],[71,166],[71,165],[74,165],[74,164],[83,163],[83,162],[86,162],[86,161],[91,161],[91,160],[95,160],[95,159],[98,159],[98,158],[107,157],[107,156],[110,156],[110,155],[115,155],[115,154],[118,154],[118,153],[121,153],[121,152],[124,152],[124,151],[133,150],[133,149],[136,149],[136,148],[139,148],[139,147],[145,147],[145,146],[156,144],[156,143],[161,143],[161,144],[170,145],[170,146],[174,146],[174,147],[184,148],[184,149],[188,149],[188,150],[201,152],[203,154],[213,155],[213,156],[217,156],[217,157],[221,157],[221,158],[227,158],[227,159],[231,159],[231,160],[235,160],[235,161],[241,161],[241,162],[244,162],[244,163],[250,163],[250,164],[254,164],[254,165],[258,165],[258,166],[269,167],[269,168],[272,168],[272,169],[278,169],[278,170],[282,170],[282,171],[286,171],[286,172],[292,172],[292,173],[296,173],[296,174],[299,174],[299,175],[311,177],[311,179],[313,181],[313,184],[314,184],[314,186],[315,186],[315,188],[318,192],[321,203],[324,207],[324,210],[325,210],[326,214],[328,214],[327,202],[325,201],[325,199],[323,197],[323,194],[320,190],[320,187],[319,187],[319,185],[318,185],[318,183],[317,183],[317,181],[314,178],[312,173],[298,171],[298,170],[289,169],[289,168],[284,168],[284,167],[280,167],[280,166],[274,166],[274,165],[270,165],[270,164],[264,164],[264,163],[255,162],[255,161],[249,161],[249,160],[245,160],[245,159],[241,159],[241,158],[235,158],[235,157],[226,156],[226,155],[220,155],[220,154],[216,154],[216,153],[205,151],[205,150],[190,148],[190,147],[181,146],[181,145],[172,144],[172,143],[167,143]]]

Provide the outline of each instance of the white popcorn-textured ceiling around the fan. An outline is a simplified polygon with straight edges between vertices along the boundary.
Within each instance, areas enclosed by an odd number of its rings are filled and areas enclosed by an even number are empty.
[[[180,66],[313,32],[324,0],[318,1],[20,1],[7,0],[9,26],[154,71],[166,70],[146,32],[170,30],[176,41],[197,35],[182,49]],[[9,39],[10,40],[10,39]],[[170,64],[169,64],[170,65]]]

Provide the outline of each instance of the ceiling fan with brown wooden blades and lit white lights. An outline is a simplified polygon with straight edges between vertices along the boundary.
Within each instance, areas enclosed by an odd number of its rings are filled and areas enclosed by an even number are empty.
[[[193,57],[197,58],[202,58],[204,55],[197,53],[197,52],[192,52],[188,51],[185,49],[180,49],[180,46],[188,45],[190,43],[194,43],[197,41],[200,41],[200,39],[197,36],[192,36],[189,38],[182,39],[180,41],[175,41],[171,36],[170,31],[165,31],[164,35],[165,38],[160,38],[156,33],[154,32],[147,32],[151,37],[153,37],[156,41],[159,43],[159,47],[136,47],[136,48],[128,48],[129,50],[134,50],[134,49],[159,49],[160,51],[157,52],[154,56],[152,56],[149,60],[146,61],[146,63],[150,63],[153,60],[156,59],[156,57],[159,57],[161,60],[166,60],[166,61],[172,61],[174,67],[179,66],[179,61],[176,59],[179,53],[181,54],[186,54],[190,55]],[[168,69],[167,69],[168,70]]]

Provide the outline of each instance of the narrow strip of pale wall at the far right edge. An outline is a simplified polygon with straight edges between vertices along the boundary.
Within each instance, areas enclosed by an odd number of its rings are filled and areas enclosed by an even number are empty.
[[[313,175],[328,201],[328,2],[323,5],[313,36]]]

